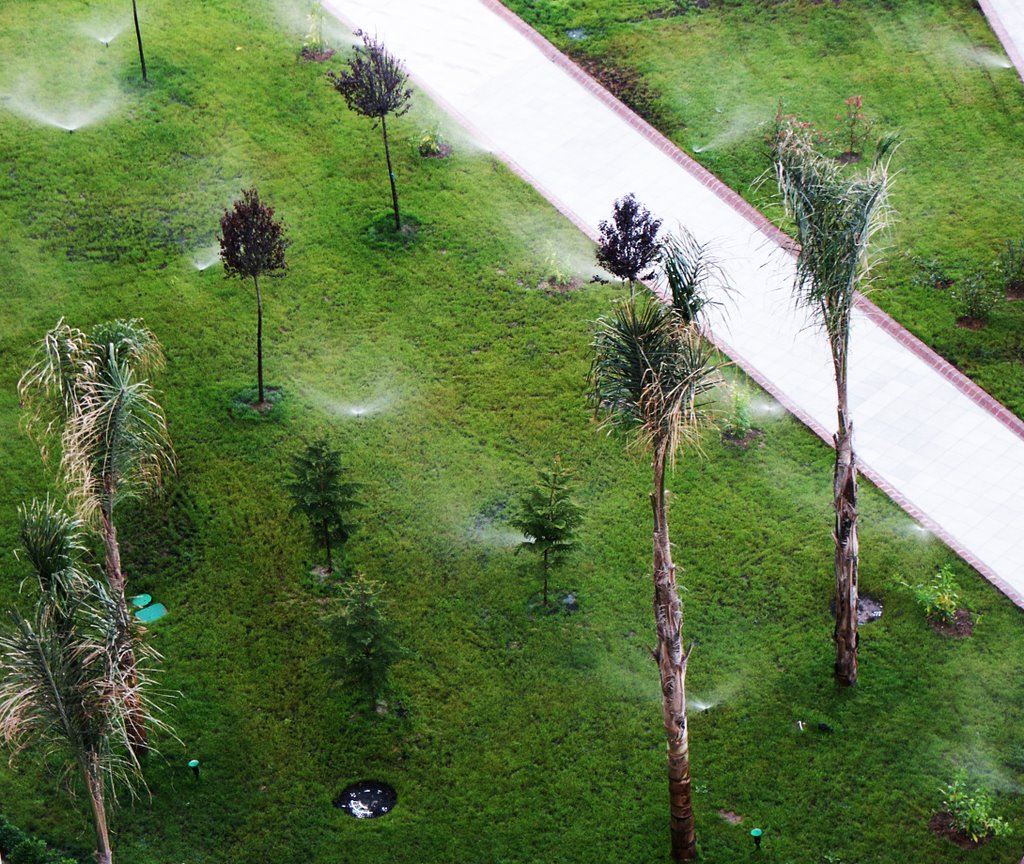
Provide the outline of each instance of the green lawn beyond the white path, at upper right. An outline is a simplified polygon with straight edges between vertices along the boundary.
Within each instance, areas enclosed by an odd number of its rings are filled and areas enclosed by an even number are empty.
[[[1024,87],[1000,66],[1009,61],[975,3],[507,5],[559,47],[636,74],[651,122],[777,221],[771,184],[756,181],[779,102],[831,132],[844,100],[863,96],[877,133],[903,137],[893,163],[896,222],[872,299],[1024,416],[1024,303],[1000,304],[984,331],[970,332],[956,327],[951,292],[923,284],[927,262],[959,282],[1024,236]],[[587,38],[570,39],[580,28]]]

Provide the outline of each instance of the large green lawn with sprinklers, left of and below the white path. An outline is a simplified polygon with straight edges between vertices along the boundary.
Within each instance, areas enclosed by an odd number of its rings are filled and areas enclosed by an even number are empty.
[[[378,136],[324,67],[296,61],[299,28],[261,3],[185,17],[153,0],[141,87],[125,36],[106,49],[75,33],[94,14],[51,4],[49,44],[67,53],[44,57],[30,42],[37,4],[0,6],[7,82],[48,75],[69,99],[114,82],[121,102],[74,135],[0,117],[0,605],[30,602],[9,552],[15,506],[53,482],[18,429],[14,384],[33,344],[59,315],[144,317],[168,356],[157,383],[179,468],[159,499],[124,509],[121,532],[131,590],[170,610],[151,638],[180,693],[170,720],[183,743],[162,742],[152,796],[117,814],[118,860],[664,860],[648,470],[595,431],[583,398],[590,322],[618,291],[537,287],[553,251],[586,277],[589,243],[457,130],[444,130],[452,159],[420,159],[419,131],[437,121],[422,94],[393,138],[419,230],[393,243],[378,227],[389,205]],[[251,289],[190,263],[252,184],[293,241],[289,273],[264,288],[267,384],[284,398],[260,422],[234,406],[255,376]],[[374,400],[378,414],[345,413]],[[691,719],[702,858],[740,860],[758,825],[766,861],[965,861],[927,828],[956,766],[1024,825],[1020,612],[865,486],[863,589],[886,611],[863,631],[860,684],[838,692],[831,457],[792,419],[758,423],[763,447],[709,438],[708,459],[684,460],[671,481],[686,635],[699,642],[691,694],[717,701]],[[289,455],[319,432],[367,484],[350,561],[386,584],[409,651],[383,717],[321,663],[314,553],[283,489]],[[535,617],[534,562],[473,528],[555,452],[578,472],[587,520],[553,589],[581,611]],[[898,588],[947,563],[979,616],[965,642],[934,635]],[[331,806],[365,777],[398,790],[379,821]],[[12,821],[87,858],[86,817],[38,760],[0,769],[0,789]],[[744,822],[727,824],[723,808]],[[1018,849],[1000,838],[970,857]]]

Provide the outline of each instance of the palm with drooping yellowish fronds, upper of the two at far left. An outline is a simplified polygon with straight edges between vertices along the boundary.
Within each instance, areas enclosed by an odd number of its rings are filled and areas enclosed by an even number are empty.
[[[115,508],[158,484],[173,466],[163,409],[139,377],[162,363],[160,344],[137,319],[109,321],[88,334],[61,319],[39,354],[18,393],[30,407],[30,426],[42,426],[44,452],[48,442],[59,441],[61,475],[79,514],[99,517],[110,596],[119,617],[130,620]],[[130,641],[124,647],[130,661]],[[144,749],[141,706],[130,729],[136,749]]]

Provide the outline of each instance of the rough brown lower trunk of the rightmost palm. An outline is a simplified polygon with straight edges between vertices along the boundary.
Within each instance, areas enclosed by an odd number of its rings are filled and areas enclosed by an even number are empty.
[[[857,458],[853,451],[853,423],[840,388],[839,432],[836,433],[836,681],[843,687],[857,683]]]

